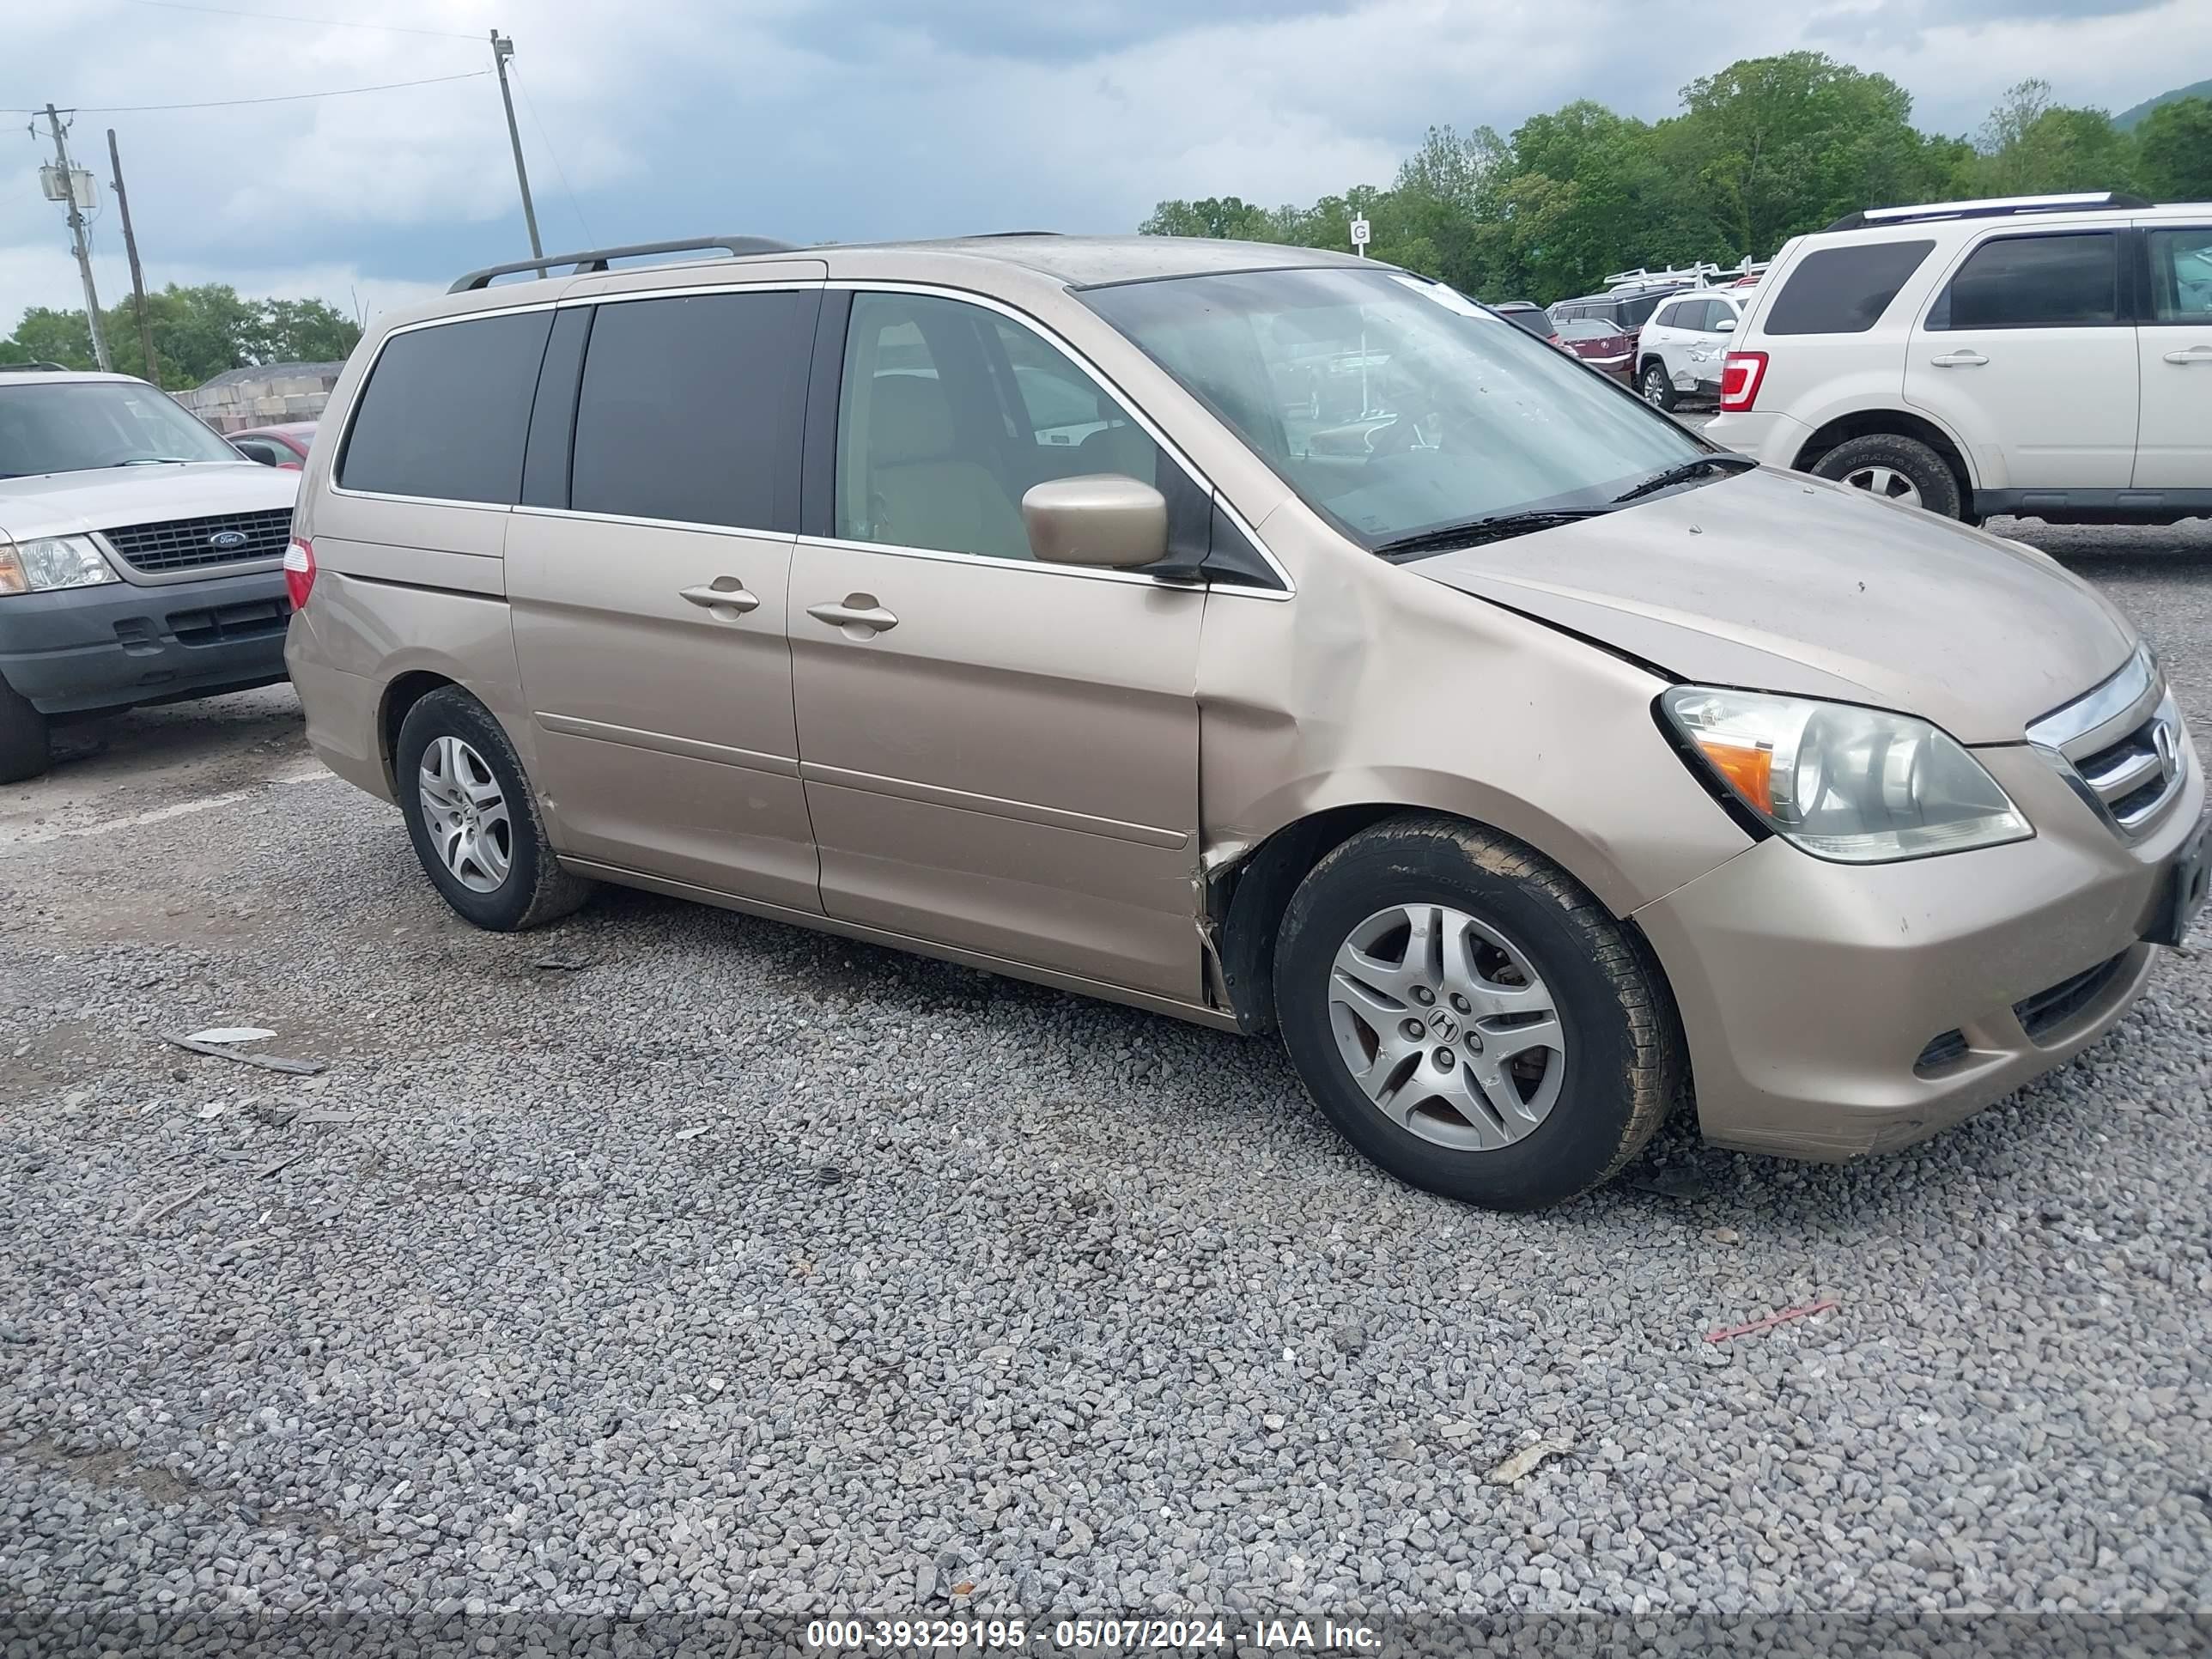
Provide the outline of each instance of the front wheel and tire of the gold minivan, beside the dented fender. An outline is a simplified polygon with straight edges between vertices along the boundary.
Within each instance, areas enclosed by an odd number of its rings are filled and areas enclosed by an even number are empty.
[[[1613,1177],[1688,1075],[1641,938],[1522,843],[1387,818],[1336,847],[1276,942],[1314,1104],[1402,1181],[1535,1210]]]

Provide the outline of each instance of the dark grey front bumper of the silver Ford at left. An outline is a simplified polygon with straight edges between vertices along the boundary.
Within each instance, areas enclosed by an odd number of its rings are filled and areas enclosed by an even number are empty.
[[[283,679],[283,571],[9,593],[0,677],[42,714],[173,703]]]

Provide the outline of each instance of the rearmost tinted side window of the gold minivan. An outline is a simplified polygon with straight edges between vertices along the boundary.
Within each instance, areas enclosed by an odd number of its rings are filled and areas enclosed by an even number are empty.
[[[513,507],[553,312],[394,334],[361,392],[338,484]]]

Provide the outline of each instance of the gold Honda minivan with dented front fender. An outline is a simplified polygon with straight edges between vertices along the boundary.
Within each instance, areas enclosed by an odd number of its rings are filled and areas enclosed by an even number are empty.
[[[354,352],[294,535],[307,737],[471,922],[611,880],[1281,1031],[1498,1208],[1677,1102],[1929,1135],[2203,900],[2086,584],[1310,248],[476,272]]]

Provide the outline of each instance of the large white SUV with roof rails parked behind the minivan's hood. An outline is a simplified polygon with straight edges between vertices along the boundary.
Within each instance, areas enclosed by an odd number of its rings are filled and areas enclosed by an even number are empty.
[[[1750,294],[1714,442],[1973,522],[2212,515],[2212,204],[1876,208]]]

